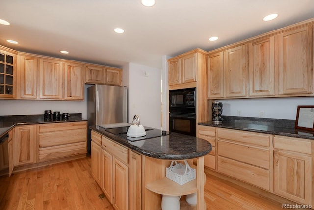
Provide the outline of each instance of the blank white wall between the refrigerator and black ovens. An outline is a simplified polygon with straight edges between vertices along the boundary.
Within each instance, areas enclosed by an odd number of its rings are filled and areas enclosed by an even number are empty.
[[[129,63],[123,67],[123,85],[128,86],[129,122],[138,115],[144,126],[161,128],[161,70]]]

